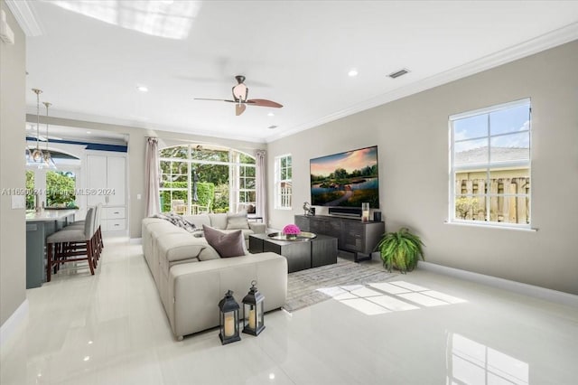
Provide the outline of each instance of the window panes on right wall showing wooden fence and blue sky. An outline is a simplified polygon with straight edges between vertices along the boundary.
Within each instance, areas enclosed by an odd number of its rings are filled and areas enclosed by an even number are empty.
[[[450,221],[529,227],[530,111],[525,99],[450,117]]]

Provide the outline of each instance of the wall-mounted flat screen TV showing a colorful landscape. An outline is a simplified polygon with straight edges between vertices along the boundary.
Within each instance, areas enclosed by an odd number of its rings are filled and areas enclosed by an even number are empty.
[[[379,208],[378,146],[314,158],[310,172],[313,206]]]

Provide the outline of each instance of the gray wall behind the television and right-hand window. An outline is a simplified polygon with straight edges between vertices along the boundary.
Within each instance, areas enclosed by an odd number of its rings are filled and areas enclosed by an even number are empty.
[[[293,154],[294,210],[271,207],[277,229],[310,201],[309,160],[379,146],[386,229],[423,237],[429,262],[578,294],[578,41],[279,139]],[[532,99],[532,226],[537,231],[444,224],[448,218],[448,117]],[[273,202],[273,189],[269,202]]]

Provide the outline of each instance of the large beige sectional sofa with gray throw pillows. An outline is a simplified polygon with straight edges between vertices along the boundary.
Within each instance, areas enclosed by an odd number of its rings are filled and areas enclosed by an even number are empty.
[[[231,223],[235,227],[242,222],[230,214],[183,218],[197,228],[201,229],[204,224],[224,232],[234,231],[230,229]],[[177,339],[219,326],[219,300],[230,289],[240,305],[252,280],[256,280],[265,296],[266,311],[284,305],[287,295],[284,257],[246,251],[243,256],[220,258],[206,239],[196,236],[200,235],[196,231],[189,232],[160,218],[145,218],[142,226],[144,258]],[[246,238],[253,232],[265,232],[265,225],[261,223],[249,222],[247,227],[242,229]]]

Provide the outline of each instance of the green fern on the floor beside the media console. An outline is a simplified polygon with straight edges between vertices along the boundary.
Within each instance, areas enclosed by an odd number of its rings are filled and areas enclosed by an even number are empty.
[[[391,273],[397,268],[402,274],[412,271],[417,266],[419,257],[424,259],[424,242],[405,227],[396,232],[386,232],[379,240],[376,249],[379,251],[384,268]]]

